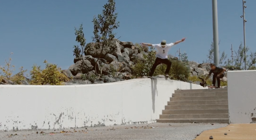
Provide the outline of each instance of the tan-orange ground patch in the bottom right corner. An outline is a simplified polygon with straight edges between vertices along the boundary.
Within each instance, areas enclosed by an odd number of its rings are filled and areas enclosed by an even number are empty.
[[[226,133],[226,135],[225,135]],[[201,133],[196,140],[256,140],[256,124],[230,124]]]

